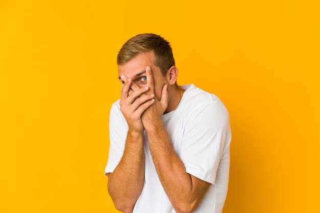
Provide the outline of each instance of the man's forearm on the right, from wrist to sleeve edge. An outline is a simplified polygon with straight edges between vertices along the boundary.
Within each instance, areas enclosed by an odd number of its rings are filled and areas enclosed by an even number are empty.
[[[207,192],[209,184],[201,187],[198,184],[201,180],[186,172],[162,123],[147,132],[153,162],[170,202],[176,212],[192,212]]]

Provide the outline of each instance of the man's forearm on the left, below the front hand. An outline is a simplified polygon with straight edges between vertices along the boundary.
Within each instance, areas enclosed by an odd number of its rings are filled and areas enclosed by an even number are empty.
[[[122,159],[108,176],[108,192],[119,210],[132,212],[143,184],[143,134],[136,134],[129,129]]]

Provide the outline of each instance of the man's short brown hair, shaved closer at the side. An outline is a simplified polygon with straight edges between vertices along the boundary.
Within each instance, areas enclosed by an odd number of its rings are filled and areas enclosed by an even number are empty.
[[[153,51],[154,65],[161,69],[163,75],[166,75],[171,66],[175,66],[170,43],[153,33],[138,34],[124,43],[118,52],[117,64],[123,65],[139,54],[149,51]]]

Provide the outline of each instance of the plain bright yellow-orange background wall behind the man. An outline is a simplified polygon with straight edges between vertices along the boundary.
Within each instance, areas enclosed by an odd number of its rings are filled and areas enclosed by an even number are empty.
[[[232,125],[224,213],[320,212],[319,1],[0,1],[0,212],[117,212],[116,55],[168,39]]]

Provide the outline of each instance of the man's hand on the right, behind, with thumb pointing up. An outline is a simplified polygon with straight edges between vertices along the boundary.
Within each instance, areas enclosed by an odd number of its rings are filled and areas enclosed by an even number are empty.
[[[147,86],[149,91],[147,93],[155,94],[154,91],[154,81],[152,76],[152,71],[150,67],[146,67],[147,75]],[[142,123],[145,129],[148,131],[148,128],[155,127],[158,122],[161,121],[161,117],[164,114],[165,110],[168,107],[168,85],[164,85],[162,89],[161,100],[154,98],[154,104],[150,104],[142,114]],[[146,93],[145,93],[146,94]]]

